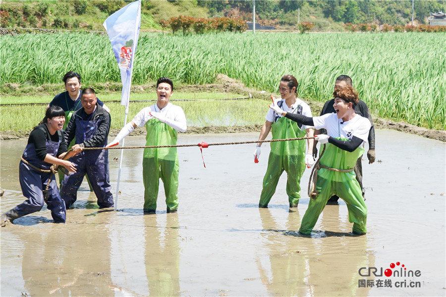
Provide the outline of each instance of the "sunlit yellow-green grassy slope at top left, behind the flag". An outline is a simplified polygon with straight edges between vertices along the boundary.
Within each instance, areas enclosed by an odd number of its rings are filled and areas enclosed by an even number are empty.
[[[104,31],[105,19],[132,1],[43,0],[1,1],[1,27]],[[171,16],[207,17],[209,10],[196,1],[142,1],[141,29],[159,29]]]

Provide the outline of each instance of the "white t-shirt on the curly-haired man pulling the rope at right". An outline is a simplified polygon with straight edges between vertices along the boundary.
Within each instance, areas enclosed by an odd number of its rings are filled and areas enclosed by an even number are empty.
[[[356,114],[354,118],[343,122],[337,118],[336,113],[327,113],[321,116],[313,117],[314,127],[316,129],[326,129],[327,135],[331,137],[342,137],[351,140],[353,136],[367,142],[369,131],[372,124],[368,118]],[[342,124],[341,124],[342,123]]]

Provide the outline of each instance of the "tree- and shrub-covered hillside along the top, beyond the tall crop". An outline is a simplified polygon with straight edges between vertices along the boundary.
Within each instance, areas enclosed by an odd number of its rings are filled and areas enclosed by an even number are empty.
[[[132,0],[1,1],[1,27],[104,31],[103,21]],[[297,30],[300,21],[316,31],[342,31],[343,23],[407,25],[411,0],[258,0],[256,20],[261,25]],[[431,12],[446,11],[446,1],[416,0],[415,22],[427,24]],[[171,17],[241,18],[252,20],[252,0],[144,0],[141,29],[161,30]]]

